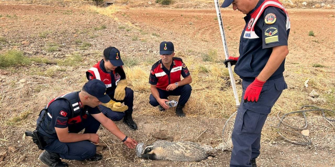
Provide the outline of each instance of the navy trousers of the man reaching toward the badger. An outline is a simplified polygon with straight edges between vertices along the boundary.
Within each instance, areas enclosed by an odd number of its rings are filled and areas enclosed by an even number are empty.
[[[91,115],[87,119],[82,119],[80,123],[69,124],[69,133],[79,133],[85,129],[84,133],[96,133],[99,129],[100,123]],[[60,157],[69,160],[85,160],[91,158],[96,153],[96,146],[90,141],[79,141],[73,143],[63,143],[58,138],[52,138],[45,141],[47,145],[45,150],[59,153]]]

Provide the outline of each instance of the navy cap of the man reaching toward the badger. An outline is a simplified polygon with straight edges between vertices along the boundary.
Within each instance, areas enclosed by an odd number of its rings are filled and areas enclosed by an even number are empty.
[[[105,83],[99,79],[92,79],[86,82],[83,88],[88,94],[96,97],[102,103],[111,101],[111,98],[106,95]]]

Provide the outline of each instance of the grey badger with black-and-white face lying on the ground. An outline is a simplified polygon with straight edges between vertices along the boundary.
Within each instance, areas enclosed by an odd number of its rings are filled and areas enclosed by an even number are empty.
[[[212,149],[211,146],[198,143],[158,140],[145,147],[140,157],[150,160],[201,161],[215,157],[208,154]]]

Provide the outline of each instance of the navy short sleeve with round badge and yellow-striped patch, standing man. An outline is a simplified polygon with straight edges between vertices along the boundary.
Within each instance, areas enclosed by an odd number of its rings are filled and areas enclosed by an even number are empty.
[[[286,13],[277,7],[267,7],[260,17],[262,47],[287,46]]]

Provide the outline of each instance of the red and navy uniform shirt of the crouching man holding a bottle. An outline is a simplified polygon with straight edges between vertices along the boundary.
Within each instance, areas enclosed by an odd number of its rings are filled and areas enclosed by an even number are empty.
[[[190,71],[181,58],[173,57],[170,70],[164,67],[160,59],[151,67],[149,83],[156,85],[158,89],[166,90],[171,83],[180,81],[180,75],[184,78],[190,75]]]

